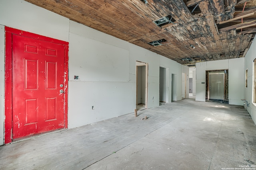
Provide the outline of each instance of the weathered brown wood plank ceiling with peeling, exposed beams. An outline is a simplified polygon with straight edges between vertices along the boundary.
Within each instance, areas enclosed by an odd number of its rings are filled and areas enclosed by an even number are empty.
[[[26,1],[188,66],[244,57],[256,33],[256,0]]]

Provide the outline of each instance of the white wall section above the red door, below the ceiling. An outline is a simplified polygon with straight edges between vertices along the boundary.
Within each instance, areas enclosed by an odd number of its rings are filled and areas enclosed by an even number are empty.
[[[68,41],[68,18],[24,0],[1,0],[0,16],[2,25]]]

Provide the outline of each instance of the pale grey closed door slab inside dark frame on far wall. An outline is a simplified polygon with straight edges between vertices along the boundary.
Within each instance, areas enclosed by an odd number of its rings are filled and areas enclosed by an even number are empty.
[[[209,74],[209,99],[224,100],[224,73]]]

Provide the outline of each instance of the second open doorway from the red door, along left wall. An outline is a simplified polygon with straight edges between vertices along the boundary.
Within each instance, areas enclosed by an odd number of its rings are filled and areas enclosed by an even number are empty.
[[[168,103],[169,80],[168,68],[160,67],[159,70],[159,105]]]

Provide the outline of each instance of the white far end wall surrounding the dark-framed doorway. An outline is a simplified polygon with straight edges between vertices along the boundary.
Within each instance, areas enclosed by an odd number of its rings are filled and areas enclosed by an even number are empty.
[[[228,69],[229,104],[243,105],[244,98],[244,58],[226,59],[196,63],[196,101],[205,102],[206,70]],[[204,84],[202,84],[204,82]]]

